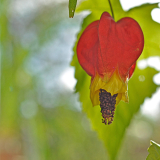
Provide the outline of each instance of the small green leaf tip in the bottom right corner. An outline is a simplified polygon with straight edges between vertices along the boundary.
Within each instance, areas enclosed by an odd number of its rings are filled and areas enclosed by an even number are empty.
[[[148,148],[149,155],[146,160],[160,160],[160,145],[151,141],[151,146]]]

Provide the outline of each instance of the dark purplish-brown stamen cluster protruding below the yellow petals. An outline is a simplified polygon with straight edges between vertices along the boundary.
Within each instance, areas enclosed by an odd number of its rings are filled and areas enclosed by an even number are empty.
[[[99,101],[104,124],[109,125],[113,121],[117,95],[118,93],[112,96],[110,92],[100,89]]]

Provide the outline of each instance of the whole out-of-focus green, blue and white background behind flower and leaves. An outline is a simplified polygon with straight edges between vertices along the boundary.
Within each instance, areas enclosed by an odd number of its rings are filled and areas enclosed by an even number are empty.
[[[159,1],[121,0],[124,10],[146,2]],[[1,0],[0,160],[108,159],[81,110],[70,66],[88,13],[70,19],[68,0]],[[160,23],[160,9],[152,17]],[[160,71],[160,58],[138,66]],[[153,80],[160,85],[160,74]],[[160,143],[159,133],[160,87],[132,120],[118,159],[145,159],[150,140]]]

